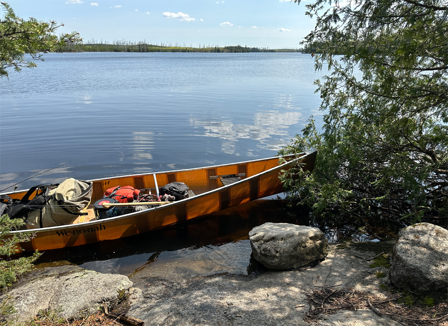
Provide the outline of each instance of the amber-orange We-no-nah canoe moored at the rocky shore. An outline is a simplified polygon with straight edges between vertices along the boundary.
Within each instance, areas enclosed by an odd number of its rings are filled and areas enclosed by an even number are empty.
[[[24,251],[48,250],[92,244],[114,240],[214,213],[251,200],[283,192],[279,179],[280,170],[287,170],[305,163],[303,169],[313,170],[317,152],[285,156],[286,163],[279,164],[281,157],[246,161],[240,163],[207,166],[168,172],[135,174],[90,180],[93,182],[91,203],[103,198],[106,189],[114,186],[131,185],[136,189],[155,188],[167,183],[186,183],[194,196],[166,205],[96,220],[93,206],[89,206],[87,217],[78,218],[74,224],[50,228],[19,230],[12,233],[33,234],[34,238],[19,244]],[[224,185],[216,176],[244,174],[241,180]],[[8,193],[12,198],[22,198],[27,190]]]

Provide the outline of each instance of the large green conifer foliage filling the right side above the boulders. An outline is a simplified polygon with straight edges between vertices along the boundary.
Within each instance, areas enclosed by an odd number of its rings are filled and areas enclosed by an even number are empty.
[[[300,0],[294,0],[300,2]],[[319,150],[315,170],[285,174],[290,199],[314,217],[448,220],[448,2],[315,0],[313,117],[281,154]]]

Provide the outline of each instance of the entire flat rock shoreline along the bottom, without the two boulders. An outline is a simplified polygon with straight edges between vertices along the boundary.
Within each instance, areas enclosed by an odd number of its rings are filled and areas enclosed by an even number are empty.
[[[397,306],[399,294],[388,291],[387,266],[372,265],[375,256],[391,252],[394,244],[329,244],[321,262],[251,275],[189,277],[194,273],[142,269],[127,277],[73,265],[46,267],[15,284],[2,299],[9,297],[17,310],[9,318],[21,321],[39,309],[62,307],[63,316],[76,318],[104,304],[112,310],[125,302],[126,315],[146,326],[398,326],[403,320],[375,308],[384,302]],[[332,296],[340,294],[340,304],[329,307],[337,301]],[[347,298],[353,300],[344,302]],[[439,322],[431,325],[448,325],[447,316]]]

